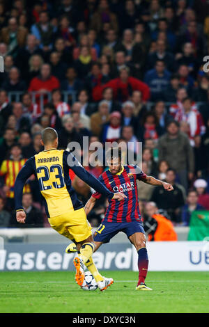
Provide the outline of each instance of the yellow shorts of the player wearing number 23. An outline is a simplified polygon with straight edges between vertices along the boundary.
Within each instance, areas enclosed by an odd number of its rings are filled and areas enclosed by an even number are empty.
[[[48,218],[48,220],[56,232],[68,239],[75,240],[77,243],[88,239],[92,234],[92,228],[87,221],[84,208]]]

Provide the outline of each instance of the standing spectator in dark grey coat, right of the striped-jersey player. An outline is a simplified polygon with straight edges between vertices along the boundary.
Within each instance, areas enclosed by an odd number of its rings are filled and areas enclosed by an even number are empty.
[[[189,138],[180,132],[179,124],[171,121],[167,125],[167,133],[159,138],[159,160],[168,161],[169,166],[176,170],[180,183],[187,190],[188,179],[194,177],[194,153]]]

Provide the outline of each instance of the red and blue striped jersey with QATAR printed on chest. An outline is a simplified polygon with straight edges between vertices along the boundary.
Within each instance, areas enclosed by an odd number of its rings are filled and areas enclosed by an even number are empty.
[[[139,209],[137,180],[144,180],[146,174],[138,166],[122,166],[121,172],[112,174],[110,170],[104,171],[99,180],[107,189],[117,193],[122,192],[127,196],[122,201],[111,199],[104,215],[103,221],[124,223],[141,221]],[[100,198],[101,194],[93,193],[93,198]]]

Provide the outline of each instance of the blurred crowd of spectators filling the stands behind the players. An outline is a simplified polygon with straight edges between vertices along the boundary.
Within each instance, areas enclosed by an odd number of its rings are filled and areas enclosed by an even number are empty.
[[[144,173],[174,189],[139,183],[148,225],[150,212],[189,225],[194,210],[209,210],[208,38],[204,0],[1,0],[0,227],[19,227],[15,177],[42,150],[45,127],[56,129],[60,149],[88,136],[124,141],[137,155],[142,142]],[[98,177],[105,168],[86,169]],[[85,203],[91,189],[70,177]],[[47,226],[34,176],[23,205],[22,227]],[[97,203],[91,225],[105,207]]]

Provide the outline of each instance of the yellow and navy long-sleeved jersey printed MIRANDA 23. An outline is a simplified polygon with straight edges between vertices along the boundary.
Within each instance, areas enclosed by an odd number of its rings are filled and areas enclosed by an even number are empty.
[[[38,179],[49,218],[81,209],[83,203],[72,188],[69,169],[102,195],[110,198],[114,196],[114,193],[88,173],[70,152],[51,149],[31,157],[20,170],[15,180],[15,209],[22,209],[22,190],[27,178],[32,174]]]

